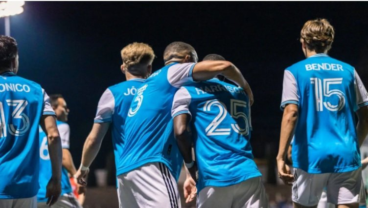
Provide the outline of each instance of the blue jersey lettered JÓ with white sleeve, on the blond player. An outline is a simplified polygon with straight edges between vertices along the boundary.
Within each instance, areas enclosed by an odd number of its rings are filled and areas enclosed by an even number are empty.
[[[124,125],[133,97],[144,79],[131,79],[108,87],[102,94],[97,106],[94,123],[112,123],[112,139],[115,154],[116,174],[123,168],[121,159],[124,148]]]

